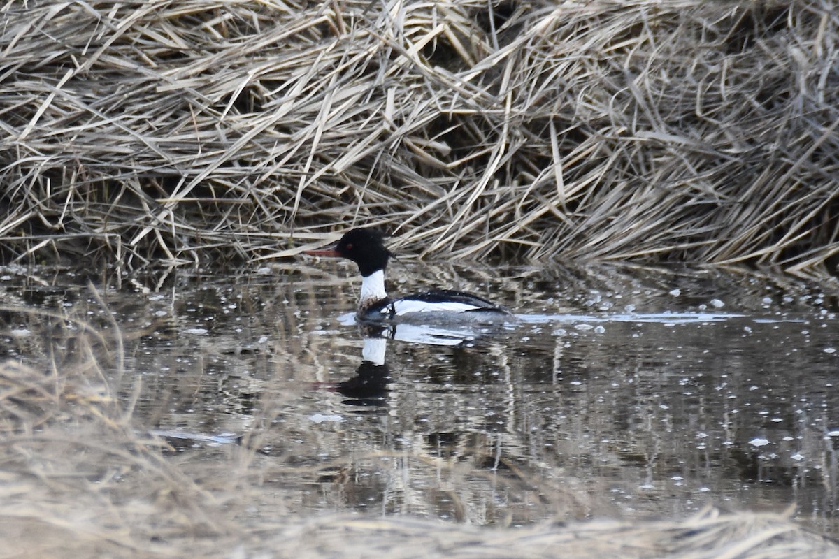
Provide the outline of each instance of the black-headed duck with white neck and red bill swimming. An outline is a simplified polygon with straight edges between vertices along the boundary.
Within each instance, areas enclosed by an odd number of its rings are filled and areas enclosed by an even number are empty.
[[[384,235],[374,229],[347,231],[334,245],[315,251],[312,256],[347,258],[362,274],[362,292],[356,317],[362,322],[501,322],[515,321],[506,308],[470,293],[435,289],[409,297],[392,299],[384,289],[384,269],[391,252],[384,246]]]

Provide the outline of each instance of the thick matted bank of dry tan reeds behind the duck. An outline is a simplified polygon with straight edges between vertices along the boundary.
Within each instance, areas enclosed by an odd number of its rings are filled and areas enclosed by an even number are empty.
[[[9,2],[3,260],[373,224],[423,255],[835,272],[837,26],[822,0]]]

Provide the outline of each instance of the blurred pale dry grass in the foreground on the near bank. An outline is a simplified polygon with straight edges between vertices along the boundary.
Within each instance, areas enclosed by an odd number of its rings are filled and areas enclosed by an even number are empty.
[[[0,361],[2,558],[839,554],[835,541],[789,515],[706,509],[680,520],[582,522],[576,519],[590,510],[585,497],[572,494],[572,479],[564,480],[561,491],[525,481],[539,499],[576,502],[584,510],[558,507],[554,521],[516,529],[380,513],[300,515],[300,489],[272,481],[276,467],[258,463],[260,438],[273,428],[269,401],[253,411],[252,427],[239,443],[222,449],[216,460],[197,463],[189,452],[172,452],[133,414],[136,395],[121,387],[128,334],[119,332],[110,313],[85,311],[91,322],[14,306],[3,313],[31,329],[21,343],[32,357]],[[441,466],[435,464],[438,475]],[[300,478],[322,474],[323,467],[289,469]],[[504,483],[503,474],[493,479]],[[435,495],[416,492],[414,498],[429,499],[433,510]]]

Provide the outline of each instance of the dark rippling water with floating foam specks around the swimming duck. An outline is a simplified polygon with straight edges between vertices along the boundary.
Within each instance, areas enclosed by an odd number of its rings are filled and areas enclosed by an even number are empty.
[[[185,468],[242,476],[254,515],[519,525],[794,505],[839,535],[835,288],[742,271],[409,264],[393,267],[393,292],[466,289],[522,322],[370,333],[347,319],[353,267],[318,266],[94,281],[124,338],[112,381],[135,426]],[[78,273],[0,277],[7,306],[107,314]],[[0,339],[25,359],[39,344],[22,316],[8,313]]]

